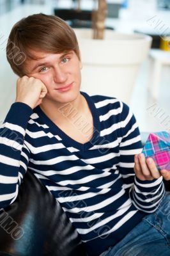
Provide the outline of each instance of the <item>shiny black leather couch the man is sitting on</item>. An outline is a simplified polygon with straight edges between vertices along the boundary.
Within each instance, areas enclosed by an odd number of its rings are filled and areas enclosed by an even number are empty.
[[[169,181],[166,189],[170,191]],[[29,171],[15,202],[0,211],[0,255],[87,255],[59,203]]]

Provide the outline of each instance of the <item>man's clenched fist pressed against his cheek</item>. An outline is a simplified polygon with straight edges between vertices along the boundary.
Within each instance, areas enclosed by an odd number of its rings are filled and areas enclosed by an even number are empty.
[[[17,80],[17,97],[15,102],[26,103],[34,109],[42,102],[46,93],[47,88],[40,79],[23,76]]]

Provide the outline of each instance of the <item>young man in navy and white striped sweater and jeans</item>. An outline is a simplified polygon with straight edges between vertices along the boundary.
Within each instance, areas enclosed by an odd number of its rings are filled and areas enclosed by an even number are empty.
[[[139,129],[126,104],[80,92],[72,28],[58,17],[31,15],[12,28],[6,52],[20,78],[0,131],[0,207],[14,202],[28,168],[59,201],[88,255],[125,255],[120,244],[129,236],[128,256],[145,249],[160,255],[160,248],[169,255],[168,225],[164,236],[147,220],[167,200],[162,177],[169,173],[139,154]]]

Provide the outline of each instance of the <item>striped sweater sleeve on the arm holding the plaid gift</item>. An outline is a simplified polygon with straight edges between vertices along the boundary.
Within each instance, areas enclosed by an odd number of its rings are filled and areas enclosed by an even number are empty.
[[[121,122],[120,173],[135,207],[151,213],[157,209],[164,196],[162,176],[144,181],[135,176],[134,155],[142,151],[141,136],[135,117],[126,104],[123,104],[122,115],[124,121]]]

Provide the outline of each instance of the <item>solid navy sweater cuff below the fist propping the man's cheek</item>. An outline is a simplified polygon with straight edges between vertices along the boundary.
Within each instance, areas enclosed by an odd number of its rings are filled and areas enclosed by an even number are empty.
[[[12,104],[4,123],[19,125],[26,129],[29,117],[33,113],[33,109],[23,102],[15,102]]]

